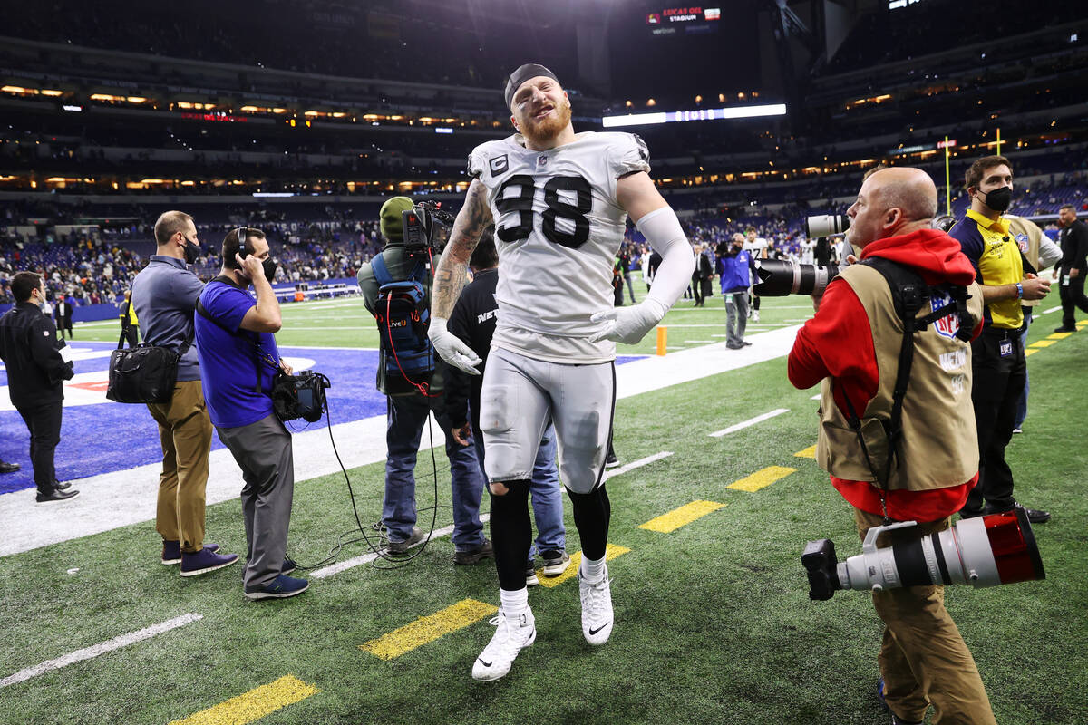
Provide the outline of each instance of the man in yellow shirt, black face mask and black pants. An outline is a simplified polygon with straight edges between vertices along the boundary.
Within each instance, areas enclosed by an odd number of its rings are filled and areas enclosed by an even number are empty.
[[[986,303],[986,329],[972,342],[975,387],[970,397],[978,426],[979,474],[978,486],[960,512],[966,518],[1018,505],[1013,498],[1013,472],[1005,461],[1005,447],[1016,426],[1016,410],[1027,378],[1021,303],[1044,298],[1050,293],[1050,280],[1026,267],[1009,221],[1002,216],[1012,201],[1012,163],[1004,157],[976,159],[964,180],[970,208],[949,235],[970,260]],[[1024,511],[1033,524],[1050,520],[1047,511]]]

